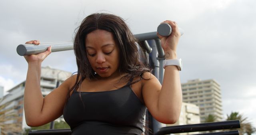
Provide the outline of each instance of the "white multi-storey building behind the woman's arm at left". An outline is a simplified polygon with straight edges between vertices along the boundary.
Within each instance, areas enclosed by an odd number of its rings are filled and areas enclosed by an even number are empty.
[[[67,71],[62,71],[58,69],[52,69],[51,67],[42,67],[41,70],[41,90],[43,96],[46,96],[50,93],[55,87],[57,81],[61,84],[66,78],[70,77],[72,73]],[[24,87],[26,81],[16,85],[12,89],[8,90],[8,94],[4,96],[4,100],[0,105],[10,103],[5,109],[13,108],[10,112],[15,112],[18,115],[18,119],[12,119],[6,121],[6,123],[19,123],[23,128],[28,127],[25,121],[24,108],[23,108],[23,97],[24,97]]]

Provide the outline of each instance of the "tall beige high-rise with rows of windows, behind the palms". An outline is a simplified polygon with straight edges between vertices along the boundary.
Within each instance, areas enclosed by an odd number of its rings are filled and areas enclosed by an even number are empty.
[[[200,108],[200,121],[205,122],[205,118],[212,114],[216,121],[221,121],[222,99],[220,85],[214,79],[189,80],[182,83],[183,102],[193,103]]]

